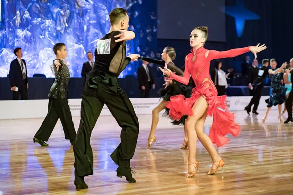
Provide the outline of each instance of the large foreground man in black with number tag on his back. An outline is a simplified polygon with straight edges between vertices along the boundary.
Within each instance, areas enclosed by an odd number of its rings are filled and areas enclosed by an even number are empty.
[[[139,124],[134,108],[126,93],[120,88],[117,77],[130,61],[139,55],[126,55],[126,40],[135,37],[133,31],[127,31],[129,17],[123,8],[115,8],[110,13],[111,29],[97,42],[95,66],[86,78],[81,105],[81,121],[73,146],[75,156],[75,180],[77,190],[87,189],[84,176],[93,174],[93,151],[90,146],[91,132],[97,122],[104,104],[122,128],[121,143],[110,155],[118,165],[117,176],[125,176],[130,183],[132,177],[130,159],[134,155]],[[123,29],[123,30],[119,30]]]

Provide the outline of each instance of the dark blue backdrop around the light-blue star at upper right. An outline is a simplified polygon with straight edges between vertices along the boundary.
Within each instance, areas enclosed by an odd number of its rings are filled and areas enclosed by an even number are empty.
[[[235,6],[239,0],[226,0],[227,6]],[[240,0],[241,1],[241,0]],[[243,0],[246,9],[257,14],[259,20],[246,20],[243,34],[237,36],[235,17],[226,15],[226,49],[246,47],[257,43],[266,44],[267,49],[257,55],[258,62],[264,58],[275,58],[278,66],[284,61],[289,62],[293,57],[293,16],[291,0]],[[248,53],[251,60],[254,55]],[[229,64],[234,64],[240,70],[245,55],[228,59]]]

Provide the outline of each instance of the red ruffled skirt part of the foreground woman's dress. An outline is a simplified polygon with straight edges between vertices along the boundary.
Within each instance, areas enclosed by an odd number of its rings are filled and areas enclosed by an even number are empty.
[[[226,106],[226,95],[217,96],[217,92],[209,82],[205,82],[200,87],[195,87],[190,98],[184,99],[183,95],[170,97],[170,101],[166,103],[166,107],[170,109],[169,116],[173,120],[180,120],[184,115],[194,116],[192,107],[195,101],[203,95],[208,102],[207,115],[213,117],[213,123],[209,131],[211,141],[221,147],[227,144],[230,140],[225,137],[230,133],[233,136],[238,136],[241,132],[240,126],[234,123],[235,113],[230,113]],[[195,113],[196,114],[196,113]]]

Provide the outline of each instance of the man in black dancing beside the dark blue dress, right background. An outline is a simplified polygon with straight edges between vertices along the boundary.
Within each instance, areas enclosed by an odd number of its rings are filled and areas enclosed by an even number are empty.
[[[262,67],[258,68],[258,71],[257,71],[257,78],[252,83],[252,85],[253,85],[253,89],[252,89],[253,90],[253,98],[251,99],[249,104],[244,108],[244,110],[246,110],[248,114],[250,113],[251,107],[254,104],[252,112],[253,112],[253,114],[258,115],[257,108],[258,108],[259,101],[261,98],[261,92],[264,88],[264,81],[265,81],[265,78],[267,78],[269,75],[269,68],[268,67],[269,67],[269,59],[263,59],[262,60]]]

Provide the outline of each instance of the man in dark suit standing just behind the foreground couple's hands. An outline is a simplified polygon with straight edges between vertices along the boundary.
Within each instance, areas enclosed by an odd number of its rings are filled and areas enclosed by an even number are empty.
[[[141,98],[149,98],[151,88],[155,88],[154,78],[148,62],[143,61],[141,67],[137,70],[137,77],[139,81],[139,89],[141,90]]]

